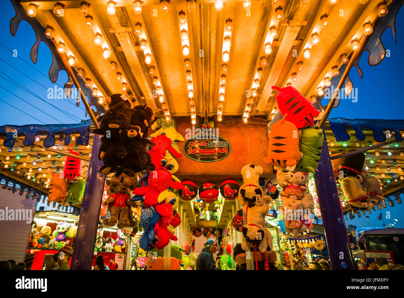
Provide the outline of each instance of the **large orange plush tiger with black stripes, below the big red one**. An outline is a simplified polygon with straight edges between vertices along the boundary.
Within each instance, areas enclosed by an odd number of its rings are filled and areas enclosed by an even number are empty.
[[[277,121],[271,127],[269,135],[268,157],[264,158],[265,163],[271,163],[275,167],[286,168],[296,165],[301,159],[299,152],[299,130],[296,125],[286,121],[288,114],[282,120]]]

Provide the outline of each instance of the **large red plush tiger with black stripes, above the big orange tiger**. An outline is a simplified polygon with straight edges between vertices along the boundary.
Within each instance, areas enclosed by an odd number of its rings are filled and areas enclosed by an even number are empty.
[[[292,86],[279,88],[272,86],[279,92],[276,94],[276,103],[282,116],[288,114],[287,121],[292,122],[297,128],[303,128],[314,124],[314,117],[320,114],[311,102],[301,95],[297,89]]]

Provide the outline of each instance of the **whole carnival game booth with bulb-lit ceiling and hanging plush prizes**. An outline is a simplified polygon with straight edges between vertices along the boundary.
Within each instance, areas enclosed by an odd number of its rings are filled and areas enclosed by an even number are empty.
[[[383,63],[403,1],[278,2],[11,0],[11,34],[32,27],[32,61],[46,44],[90,120],[0,127],[0,260],[196,270],[213,246],[222,270],[400,264],[400,231],[375,248],[347,222],[402,203],[404,120],[329,115],[365,51]]]

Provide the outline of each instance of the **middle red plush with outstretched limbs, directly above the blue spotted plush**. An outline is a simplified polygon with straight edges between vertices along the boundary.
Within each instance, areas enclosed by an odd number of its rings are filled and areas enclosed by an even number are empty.
[[[151,156],[151,162],[154,164],[156,169],[149,173],[149,185],[135,188],[132,193],[144,195],[145,201],[143,205],[146,208],[155,207],[156,211],[160,213],[160,215],[167,216],[168,214],[164,213],[164,210],[159,210],[161,205],[156,205],[158,203],[158,195],[168,187],[183,189],[184,186],[180,182],[175,182],[171,179],[173,175],[171,175],[171,173],[164,167],[166,164],[166,159],[164,156],[160,154],[153,154]]]

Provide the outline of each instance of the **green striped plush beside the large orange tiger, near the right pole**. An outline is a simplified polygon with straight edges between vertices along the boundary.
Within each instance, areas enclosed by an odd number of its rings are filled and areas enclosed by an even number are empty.
[[[318,167],[323,139],[324,135],[321,130],[315,128],[301,129],[299,150],[303,153],[303,158],[297,164],[297,171],[314,173]]]

